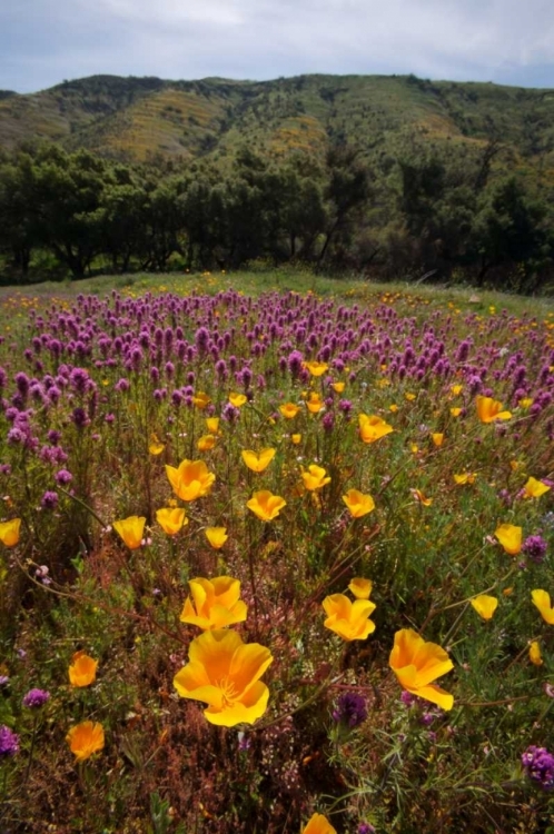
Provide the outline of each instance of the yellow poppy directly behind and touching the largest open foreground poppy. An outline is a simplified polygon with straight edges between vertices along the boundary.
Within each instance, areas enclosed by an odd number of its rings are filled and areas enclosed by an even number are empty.
[[[225,628],[234,623],[244,623],[247,606],[240,597],[240,582],[230,576],[215,579],[190,579],[192,600],[187,597],[179,619],[202,631]]]

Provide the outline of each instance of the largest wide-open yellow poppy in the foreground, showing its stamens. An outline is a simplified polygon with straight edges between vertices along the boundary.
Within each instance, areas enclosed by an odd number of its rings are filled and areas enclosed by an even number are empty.
[[[243,643],[236,632],[204,632],[190,644],[189,663],[174,686],[181,698],[207,704],[204,715],[211,724],[254,724],[267,708],[269,689],[259,678],[273,659],[268,648]]]

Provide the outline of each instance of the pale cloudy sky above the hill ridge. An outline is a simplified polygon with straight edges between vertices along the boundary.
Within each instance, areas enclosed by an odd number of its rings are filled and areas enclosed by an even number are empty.
[[[554,88],[553,0],[0,0],[0,89],[92,75]]]

